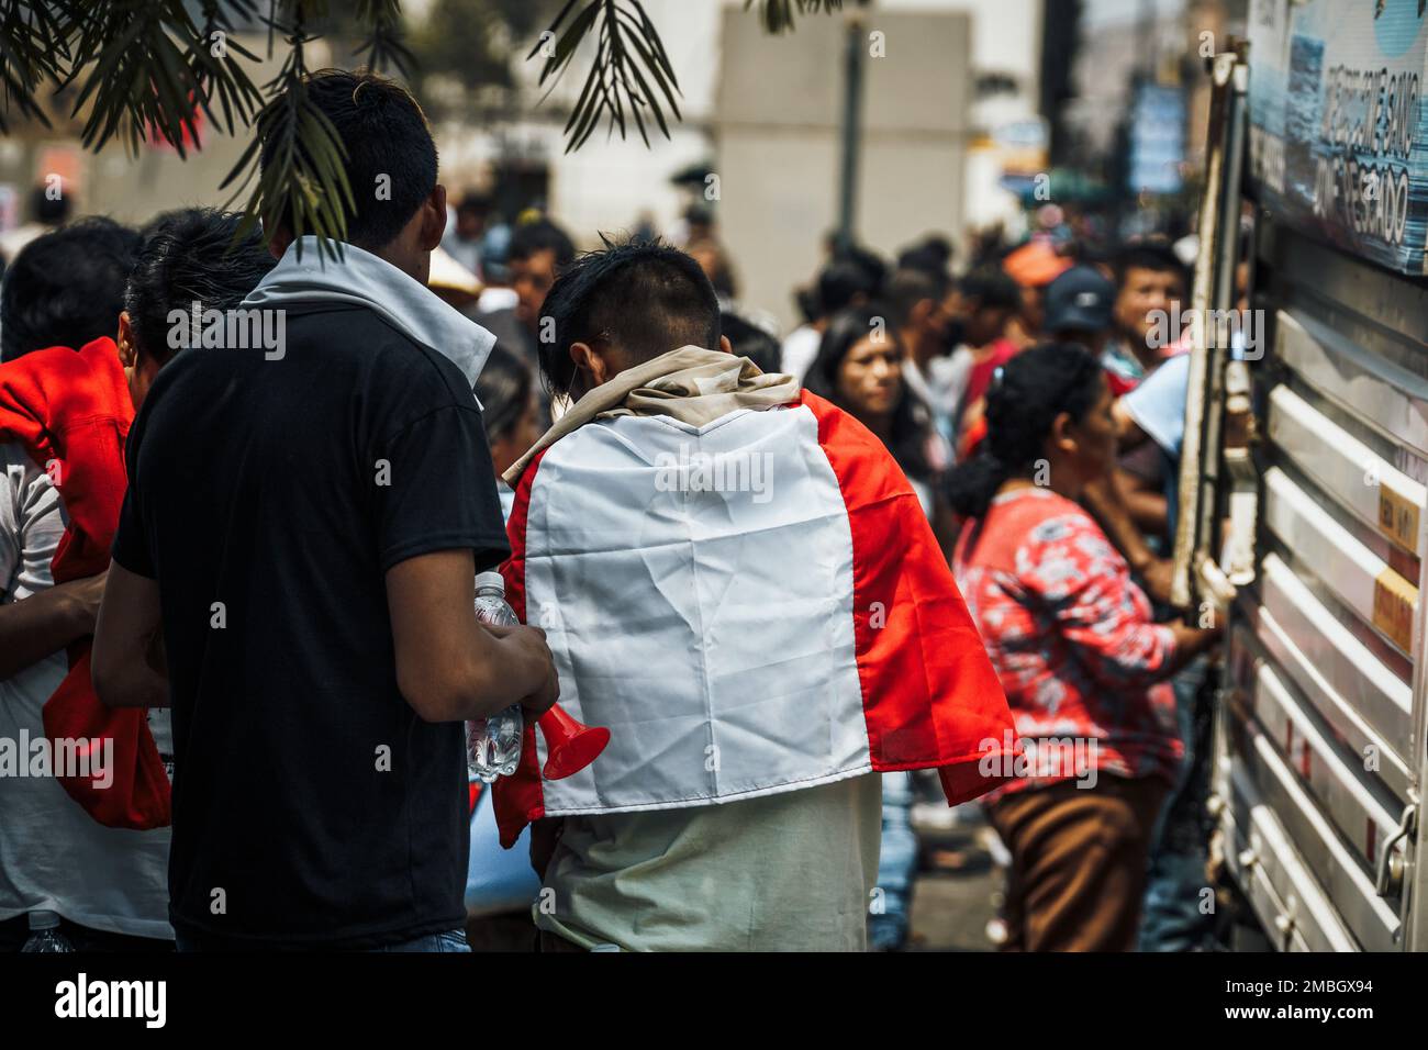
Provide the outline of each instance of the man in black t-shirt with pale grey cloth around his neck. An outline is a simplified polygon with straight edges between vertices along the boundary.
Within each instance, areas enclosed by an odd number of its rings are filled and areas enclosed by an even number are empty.
[[[473,611],[507,553],[471,393],[493,340],[424,287],[426,119],[373,76],[307,93],[347,147],[343,260],[270,216],[253,313],[221,349],[176,324],[194,349],[129,436],[94,686],[173,704],[180,950],[466,950],[461,721],[558,686],[538,630]]]

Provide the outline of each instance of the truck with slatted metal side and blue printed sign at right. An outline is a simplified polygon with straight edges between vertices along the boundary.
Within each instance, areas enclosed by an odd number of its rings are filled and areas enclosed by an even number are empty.
[[[1428,13],[1252,0],[1211,71],[1172,600],[1225,630],[1212,864],[1274,949],[1424,950]]]

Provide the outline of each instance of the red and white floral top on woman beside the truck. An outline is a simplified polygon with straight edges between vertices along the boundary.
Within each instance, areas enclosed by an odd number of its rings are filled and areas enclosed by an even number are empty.
[[[1048,489],[1004,493],[962,527],[952,571],[1025,747],[998,794],[1102,773],[1174,780],[1175,637],[1085,510]]]

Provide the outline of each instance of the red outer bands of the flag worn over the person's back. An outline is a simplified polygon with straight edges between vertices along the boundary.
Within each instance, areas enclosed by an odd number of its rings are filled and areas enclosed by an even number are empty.
[[[853,546],[853,601],[847,611],[853,616],[871,769],[937,769],[942,793],[952,806],[992,790],[1010,776],[998,770],[1014,757],[1011,713],[917,496],[881,441],[851,416],[807,390],[794,410],[807,410],[814,417],[817,447],[790,454],[821,453],[847,511]],[[577,440],[577,434],[561,440]],[[531,491],[548,451],[541,451],[516,484],[507,523],[511,557],[501,566],[506,599],[527,623],[531,621],[526,579],[530,530],[548,534],[560,527],[551,523],[548,507],[531,513]],[[571,557],[591,539],[561,531],[563,550]],[[660,539],[653,530],[645,537],[650,543]],[[757,543],[758,537],[748,534],[747,540]],[[801,556],[803,551],[788,551],[790,573],[800,571]],[[770,610],[771,617],[783,614]],[[494,783],[493,803],[506,849],[527,823],[545,816],[530,724],[520,766]]]

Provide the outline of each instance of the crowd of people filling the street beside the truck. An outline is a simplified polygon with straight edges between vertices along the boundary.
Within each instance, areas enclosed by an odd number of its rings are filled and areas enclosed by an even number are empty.
[[[1004,947],[1211,944],[1171,247],[830,239],[780,339],[707,216],[581,254],[448,204],[400,86],[307,90],[391,176],[341,259],[186,209],[6,271],[0,950],[900,950],[928,787]]]

